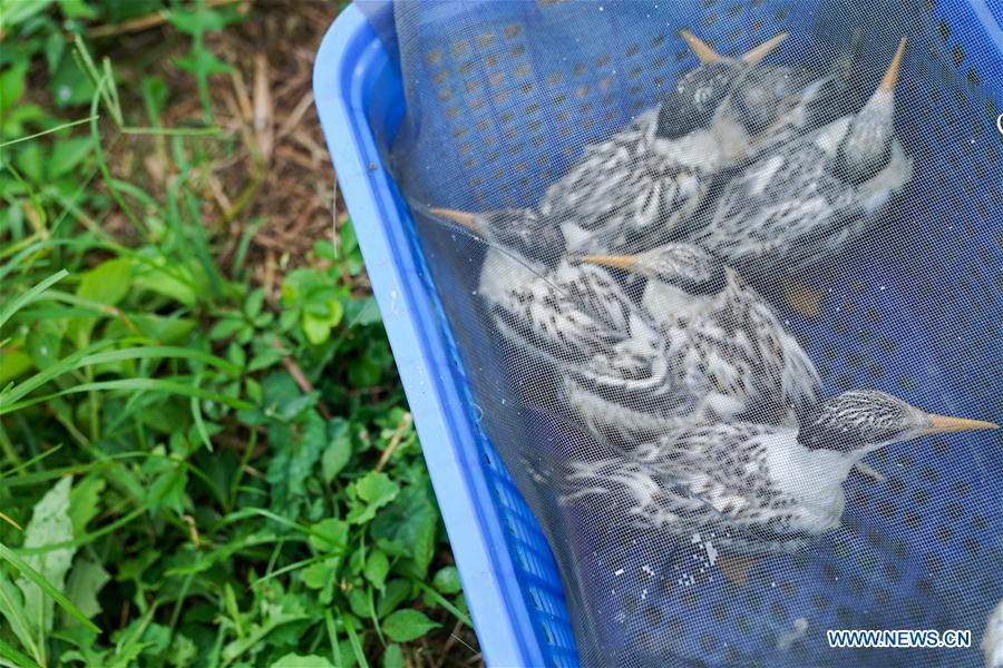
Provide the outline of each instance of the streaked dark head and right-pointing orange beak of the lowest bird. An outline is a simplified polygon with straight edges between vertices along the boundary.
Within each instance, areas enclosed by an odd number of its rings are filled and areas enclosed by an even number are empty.
[[[992,422],[927,413],[886,392],[851,390],[834,396],[801,420],[798,442],[859,459],[898,441],[927,434],[996,429]]]

